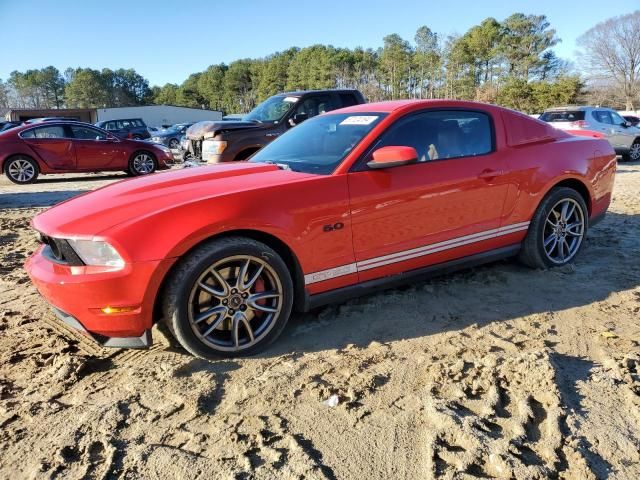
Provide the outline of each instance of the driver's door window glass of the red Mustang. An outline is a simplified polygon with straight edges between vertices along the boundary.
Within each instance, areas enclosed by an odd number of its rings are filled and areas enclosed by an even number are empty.
[[[419,162],[473,157],[493,150],[489,115],[458,110],[430,111],[400,119],[375,148],[408,146],[418,152]]]

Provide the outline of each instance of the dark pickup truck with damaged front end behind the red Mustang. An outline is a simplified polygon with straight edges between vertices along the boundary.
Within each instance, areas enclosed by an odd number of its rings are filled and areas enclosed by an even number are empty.
[[[365,103],[358,90],[306,90],[269,97],[242,120],[198,122],[186,132],[185,159],[246,160],[289,128],[330,110]]]

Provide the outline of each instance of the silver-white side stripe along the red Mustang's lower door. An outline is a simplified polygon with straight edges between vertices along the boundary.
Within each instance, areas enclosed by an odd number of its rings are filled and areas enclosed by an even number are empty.
[[[503,235],[510,235],[512,233],[527,230],[529,228],[529,223],[531,222],[514,223],[505,227],[494,228],[492,230],[486,230],[472,235],[465,235],[463,237],[446,240],[444,242],[432,243],[431,245],[425,245],[411,250],[404,250],[402,252],[391,253],[381,257],[369,258],[357,263],[350,263],[348,265],[341,265],[339,267],[309,273],[304,276],[304,283],[305,285],[309,285],[312,283],[322,282],[324,280],[342,277],[344,275],[370,270],[372,268],[378,268],[392,263],[404,262],[405,260],[431,255],[433,253],[450,250],[452,248],[462,247],[463,245],[468,245],[470,243],[482,242],[484,240],[490,240]]]

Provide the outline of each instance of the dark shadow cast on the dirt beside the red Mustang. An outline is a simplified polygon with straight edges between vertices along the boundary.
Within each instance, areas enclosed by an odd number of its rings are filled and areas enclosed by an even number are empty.
[[[505,260],[296,314],[259,356],[365,347],[589,305],[640,285],[639,248],[640,217],[609,213],[574,265],[532,270]]]

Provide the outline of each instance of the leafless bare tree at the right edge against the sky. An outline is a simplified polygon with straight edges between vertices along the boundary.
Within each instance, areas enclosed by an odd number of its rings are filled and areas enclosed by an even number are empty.
[[[614,83],[633,110],[640,93],[640,10],[610,18],[578,39],[586,74],[593,80]]]

